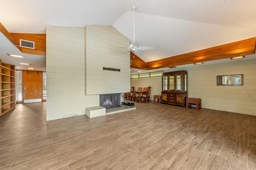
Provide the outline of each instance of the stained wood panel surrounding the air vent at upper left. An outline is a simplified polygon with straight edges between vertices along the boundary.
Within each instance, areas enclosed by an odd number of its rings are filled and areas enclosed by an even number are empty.
[[[46,55],[46,34],[9,33],[1,23],[0,31],[21,53]],[[35,49],[20,47],[20,39],[35,42]]]

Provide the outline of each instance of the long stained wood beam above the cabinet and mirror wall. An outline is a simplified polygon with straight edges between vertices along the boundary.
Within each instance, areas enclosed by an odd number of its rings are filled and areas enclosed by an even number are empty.
[[[131,68],[150,70],[198,62],[212,61],[218,59],[225,59],[231,57],[238,57],[242,55],[250,55],[255,53],[255,42],[256,38],[254,37],[246,40],[241,40],[238,42],[232,42],[224,45],[219,45],[216,47],[211,47],[208,49],[202,49],[199,51],[150,61],[147,63],[140,59],[137,55],[131,53]]]

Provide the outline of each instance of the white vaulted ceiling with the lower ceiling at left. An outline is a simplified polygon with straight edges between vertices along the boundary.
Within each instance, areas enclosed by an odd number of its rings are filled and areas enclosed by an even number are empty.
[[[46,26],[110,25],[133,42],[133,6],[135,40],[154,47],[139,55],[146,62],[256,36],[256,0],[0,0],[0,22],[11,33],[38,34]],[[19,51],[0,33],[3,63],[46,70],[45,56],[7,53]]]

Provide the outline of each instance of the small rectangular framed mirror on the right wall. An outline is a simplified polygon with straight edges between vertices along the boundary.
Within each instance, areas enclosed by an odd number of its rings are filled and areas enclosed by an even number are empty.
[[[244,75],[217,75],[217,85],[244,85]]]

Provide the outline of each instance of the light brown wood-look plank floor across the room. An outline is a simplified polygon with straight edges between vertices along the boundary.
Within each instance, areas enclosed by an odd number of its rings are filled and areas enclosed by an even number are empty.
[[[46,103],[0,117],[0,169],[256,170],[256,117],[159,103],[46,122]]]

